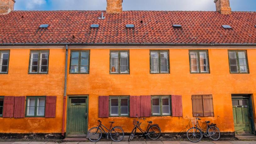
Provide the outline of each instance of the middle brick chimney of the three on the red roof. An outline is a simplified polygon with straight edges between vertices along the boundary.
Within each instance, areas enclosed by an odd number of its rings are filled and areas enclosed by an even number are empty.
[[[107,0],[107,13],[122,13],[123,0]]]

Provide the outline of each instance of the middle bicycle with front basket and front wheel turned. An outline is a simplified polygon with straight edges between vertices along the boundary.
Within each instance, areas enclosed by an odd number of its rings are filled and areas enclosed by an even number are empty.
[[[148,136],[150,139],[152,140],[155,140],[157,138],[159,138],[159,136],[161,135],[161,129],[160,127],[158,126],[158,124],[152,124],[152,121],[147,121],[148,122],[148,125],[147,125],[147,130],[144,131],[141,129],[140,125],[142,122],[140,122],[141,119],[143,119],[144,121],[146,120],[145,118],[139,118],[137,115],[136,117],[138,118],[139,121],[137,121],[136,119],[133,119],[133,129],[131,131],[131,134],[129,136],[129,142],[133,139],[133,137],[135,136],[136,134],[136,129],[138,128],[141,132],[142,132],[142,135],[141,136]]]

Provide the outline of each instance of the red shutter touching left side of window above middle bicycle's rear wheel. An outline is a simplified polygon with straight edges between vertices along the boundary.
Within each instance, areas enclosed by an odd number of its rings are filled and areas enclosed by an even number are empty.
[[[141,117],[151,116],[151,96],[141,95]]]

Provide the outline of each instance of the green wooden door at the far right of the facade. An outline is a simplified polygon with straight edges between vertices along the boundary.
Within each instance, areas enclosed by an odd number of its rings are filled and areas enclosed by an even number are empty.
[[[239,135],[252,133],[248,102],[248,99],[232,98],[235,133]]]

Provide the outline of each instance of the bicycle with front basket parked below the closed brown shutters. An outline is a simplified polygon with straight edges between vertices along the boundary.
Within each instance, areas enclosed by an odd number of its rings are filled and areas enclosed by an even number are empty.
[[[200,115],[197,115],[200,116]],[[210,121],[205,121],[207,124],[207,129],[203,130],[199,123],[198,120],[201,120],[200,118],[193,118],[192,121],[192,128],[188,129],[187,131],[187,139],[191,142],[198,142],[201,141],[201,139],[204,137],[209,137],[214,141],[217,141],[220,139],[220,130],[216,126],[216,124],[210,124]],[[195,126],[195,127],[194,127]],[[202,134],[203,133],[203,134]]]

